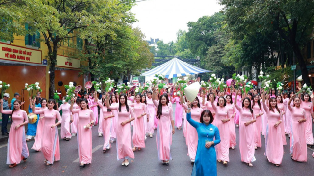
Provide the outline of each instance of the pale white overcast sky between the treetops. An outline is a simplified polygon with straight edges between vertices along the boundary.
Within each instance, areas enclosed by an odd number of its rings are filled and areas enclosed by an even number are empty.
[[[187,22],[211,16],[222,8],[217,0],[147,0],[137,2],[131,11],[138,20],[133,27],[139,27],[147,40],[159,38],[168,43],[176,41],[179,29],[188,30]]]

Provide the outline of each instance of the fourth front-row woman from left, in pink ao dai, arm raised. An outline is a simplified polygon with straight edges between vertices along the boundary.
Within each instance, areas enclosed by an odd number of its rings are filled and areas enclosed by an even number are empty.
[[[109,95],[106,93],[107,102],[109,102]],[[134,112],[129,108],[127,103],[127,95],[123,94],[119,99],[119,106],[110,106],[108,103],[106,107],[110,110],[118,111],[118,119],[116,126],[117,134],[117,160],[122,159],[122,166],[129,165],[129,158],[134,158],[134,152],[132,150],[131,143],[131,128],[130,122],[135,118]],[[130,118],[131,116],[131,118]]]

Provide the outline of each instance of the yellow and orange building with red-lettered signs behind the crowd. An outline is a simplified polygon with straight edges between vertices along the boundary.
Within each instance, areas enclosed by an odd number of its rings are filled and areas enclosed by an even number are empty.
[[[28,26],[26,25],[25,28],[27,29]],[[73,34],[70,35],[73,36]],[[38,42],[39,38],[42,39],[41,42]],[[25,83],[39,82],[39,86],[43,90],[42,97],[47,99],[49,97],[48,47],[43,40],[43,36],[37,33],[36,35],[14,36],[14,40],[11,42],[0,41],[0,81],[10,84],[10,89],[6,91],[10,94],[9,101],[15,92],[21,95],[19,99],[25,101],[22,109],[27,112],[29,93],[24,90]],[[60,45],[55,70],[55,88],[62,92],[62,96],[65,96],[64,85],[69,84],[70,81],[77,85],[84,84],[84,77],[78,77],[81,61],[70,58],[81,52],[83,41],[73,37],[67,41],[62,41]]]

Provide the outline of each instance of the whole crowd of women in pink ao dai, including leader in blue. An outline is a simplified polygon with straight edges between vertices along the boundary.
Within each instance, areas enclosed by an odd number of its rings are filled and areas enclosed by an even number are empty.
[[[96,92],[88,94],[87,91],[82,99],[72,98],[67,102],[63,97],[61,106],[54,99],[41,99],[41,106],[37,106],[38,99],[30,99],[30,109],[39,114],[32,149],[42,152],[46,165],[60,160],[56,127],[61,124],[61,139],[69,141],[77,136],[80,166],[84,167],[92,162],[91,128],[98,125],[98,136],[104,138],[103,152],[106,153],[116,141],[117,160],[122,160],[121,165],[128,166],[129,158],[134,158],[136,150],[145,148],[146,138],[153,137],[154,133],[158,159],[169,165],[176,126],[178,130],[183,128],[187,155],[193,165],[192,175],[216,175],[216,161],[228,164],[229,150],[237,145],[236,137],[239,138],[241,161],[250,167],[256,160],[254,152],[262,147],[262,142],[267,160],[280,166],[283,146],[287,145],[286,134],[290,137],[291,159],[306,162],[307,145],[314,143],[313,98],[308,93],[296,96],[293,91],[276,94],[275,90],[245,92],[231,87],[223,91],[201,89],[192,102],[184,96],[173,96],[166,89],[156,88],[133,96],[131,92],[104,93],[101,99]],[[27,113],[20,109],[19,100],[14,102],[13,110],[3,110],[3,100],[0,103],[1,113],[12,116],[7,164],[14,167],[29,157],[24,130],[28,123]],[[174,117],[172,103],[176,103]],[[97,107],[100,107],[99,116]],[[188,123],[182,123],[183,119]],[[239,127],[238,136],[235,127]]]

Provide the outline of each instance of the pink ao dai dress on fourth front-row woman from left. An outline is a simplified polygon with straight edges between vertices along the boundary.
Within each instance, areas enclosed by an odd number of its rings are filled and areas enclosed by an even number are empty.
[[[130,116],[135,118],[134,112],[129,107],[129,111],[126,106],[121,106],[121,112],[119,112],[119,106],[110,106],[110,110],[116,110],[118,112],[116,135],[117,135],[117,160],[134,158],[134,152],[132,150],[131,143],[131,127],[130,123],[121,125],[122,122],[130,119]]]

